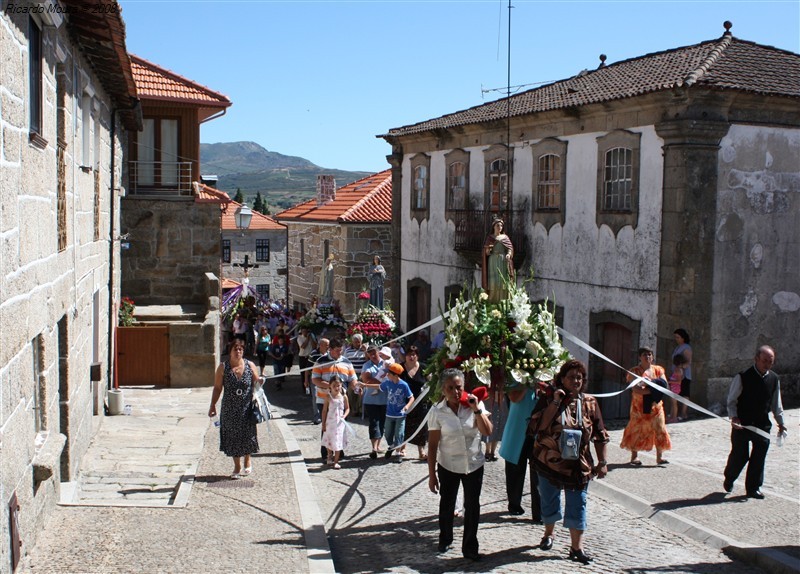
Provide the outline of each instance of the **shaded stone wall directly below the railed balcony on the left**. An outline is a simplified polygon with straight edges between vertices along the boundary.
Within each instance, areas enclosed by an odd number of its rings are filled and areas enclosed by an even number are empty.
[[[137,305],[205,305],[206,273],[219,276],[220,208],[194,200],[125,198],[122,294]]]

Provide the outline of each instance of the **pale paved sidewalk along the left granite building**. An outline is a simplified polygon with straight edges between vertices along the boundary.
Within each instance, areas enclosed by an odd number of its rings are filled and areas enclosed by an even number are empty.
[[[107,499],[104,507],[59,506],[17,572],[333,572],[317,506],[307,494],[312,488],[305,465],[293,438],[283,437],[285,422],[259,425],[261,453],[253,457],[254,473],[232,481],[233,464],[219,452],[219,431],[207,416],[211,389],[191,394],[196,398],[189,400],[186,389],[126,391],[132,414],[105,421],[83,461],[92,475],[101,462],[106,465],[111,484],[119,478],[113,475],[129,472],[123,463],[130,449],[163,452],[167,439],[166,451],[175,452],[197,441],[202,450],[194,459],[196,476],[184,477],[194,479],[188,504],[131,507]],[[146,405],[156,398],[168,416],[148,412]],[[165,430],[174,430],[169,416],[174,401],[185,406],[186,419],[204,417],[204,426],[189,425],[194,440]],[[107,447],[111,442],[116,451]],[[166,467],[156,465],[149,472],[152,480],[172,479]],[[298,492],[296,485],[304,490]]]

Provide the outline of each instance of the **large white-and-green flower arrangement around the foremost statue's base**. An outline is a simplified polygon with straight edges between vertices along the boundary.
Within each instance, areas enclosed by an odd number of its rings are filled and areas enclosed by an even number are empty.
[[[447,368],[472,373],[482,385],[534,386],[550,381],[569,359],[547,302],[534,305],[524,286],[508,286],[508,298],[490,303],[483,289],[459,295],[444,317],[444,345],[429,361],[431,400],[441,399]]]

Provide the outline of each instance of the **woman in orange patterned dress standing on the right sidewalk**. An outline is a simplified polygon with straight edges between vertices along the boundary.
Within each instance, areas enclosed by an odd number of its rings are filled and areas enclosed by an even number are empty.
[[[648,347],[639,349],[639,364],[631,368],[631,372],[651,381],[655,379],[665,381],[664,368],[653,364],[653,351]],[[633,377],[628,375],[628,382],[632,380]],[[649,396],[654,394],[654,391],[645,383],[639,383],[631,391],[633,393],[631,396],[631,418],[628,426],[625,427],[622,442],[619,446],[631,451],[631,464],[633,466],[641,466],[642,464],[642,461],[639,460],[640,450],[653,450],[653,447],[656,449],[656,463],[667,464],[668,461],[663,458],[662,453],[672,448],[672,442],[670,441],[667,422],[664,418],[664,401],[660,398],[655,400],[652,396]]]

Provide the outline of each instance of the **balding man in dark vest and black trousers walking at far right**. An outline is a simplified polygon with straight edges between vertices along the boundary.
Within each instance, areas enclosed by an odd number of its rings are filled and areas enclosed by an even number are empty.
[[[769,413],[778,423],[778,434],[785,432],[781,384],[770,369],[775,363],[775,350],[763,345],[756,351],[755,364],[733,378],[728,392],[728,416],[731,419],[731,453],[725,466],[725,492],[733,490],[733,483],[747,465],[744,480],[748,498],[764,498],[761,485],[764,483],[764,463],[769,450],[769,439],[747,430],[755,427],[769,434],[772,424]],[[750,450],[750,443],[753,444]]]

